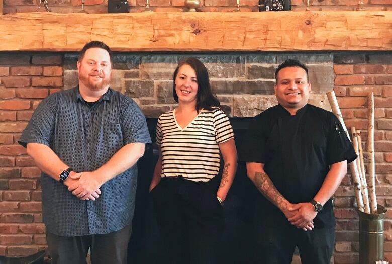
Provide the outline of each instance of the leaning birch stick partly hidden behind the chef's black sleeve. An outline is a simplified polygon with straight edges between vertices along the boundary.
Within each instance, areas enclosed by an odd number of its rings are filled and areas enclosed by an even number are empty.
[[[334,113],[335,116],[338,118],[339,122],[342,124],[346,136],[351,141],[346,125],[344,124],[342,113],[340,112],[340,108],[338,105],[338,100],[336,99],[335,96],[335,92],[333,90],[328,92],[327,97],[328,97],[329,104],[331,105],[332,113]],[[361,180],[359,178],[359,172],[358,172],[356,162],[351,162],[349,166],[351,170],[351,178],[354,185],[355,200],[357,201],[358,210],[361,212],[365,212],[365,208],[363,206],[362,193],[361,193]]]

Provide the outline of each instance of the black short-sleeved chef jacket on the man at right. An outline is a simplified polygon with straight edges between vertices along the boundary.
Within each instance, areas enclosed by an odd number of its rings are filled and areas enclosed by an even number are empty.
[[[352,162],[356,157],[335,115],[310,104],[294,116],[281,105],[257,115],[239,152],[240,161],[264,163],[264,171],[276,189],[291,203],[311,201],[331,164]],[[263,217],[275,223],[287,222],[275,205],[263,196],[260,200]],[[335,226],[331,199],[317,214],[314,225],[315,228]]]

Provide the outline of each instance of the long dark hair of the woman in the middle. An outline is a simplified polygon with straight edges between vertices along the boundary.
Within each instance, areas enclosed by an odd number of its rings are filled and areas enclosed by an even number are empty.
[[[211,91],[210,79],[208,77],[208,71],[206,66],[197,58],[189,57],[178,63],[177,68],[173,74],[173,97],[175,102],[178,103],[178,96],[175,92],[175,78],[177,77],[178,70],[183,65],[189,65],[196,73],[198,80],[198,95],[196,102],[196,110],[199,111],[202,108],[211,110],[213,106],[219,107],[219,100]]]

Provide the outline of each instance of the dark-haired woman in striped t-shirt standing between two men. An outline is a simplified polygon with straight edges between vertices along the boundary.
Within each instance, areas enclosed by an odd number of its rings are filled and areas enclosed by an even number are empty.
[[[173,81],[178,107],[158,119],[159,158],[150,185],[158,228],[167,263],[217,263],[222,204],[237,166],[233,129],[202,62],[180,62]]]

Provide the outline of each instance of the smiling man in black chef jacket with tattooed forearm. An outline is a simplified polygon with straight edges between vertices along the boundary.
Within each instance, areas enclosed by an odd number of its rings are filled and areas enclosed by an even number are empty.
[[[239,160],[260,191],[256,202],[258,263],[330,263],[335,218],[331,197],[355,151],[338,119],[308,104],[307,67],[286,60],[275,71],[278,105],[257,115]]]

